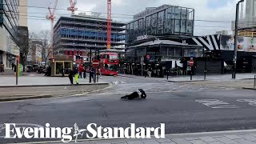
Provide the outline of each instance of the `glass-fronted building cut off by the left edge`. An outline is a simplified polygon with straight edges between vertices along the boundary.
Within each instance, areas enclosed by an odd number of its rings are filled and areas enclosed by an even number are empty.
[[[19,54],[19,0],[0,0],[0,62],[10,67]]]

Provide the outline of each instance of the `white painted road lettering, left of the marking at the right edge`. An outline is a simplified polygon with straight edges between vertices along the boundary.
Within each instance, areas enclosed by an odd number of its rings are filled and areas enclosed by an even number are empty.
[[[230,105],[228,102],[223,102],[218,99],[202,99],[195,102],[202,103],[202,105],[211,107],[212,109],[236,109],[238,106]]]

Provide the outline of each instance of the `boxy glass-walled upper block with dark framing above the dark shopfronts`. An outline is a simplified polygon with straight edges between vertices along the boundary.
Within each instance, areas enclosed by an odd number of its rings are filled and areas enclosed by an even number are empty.
[[[128,22],[126,28],[127,42],[134,42],[143,35],[193,36],[194,9],[170,5],[146,8],[134,15],[134,20]]]

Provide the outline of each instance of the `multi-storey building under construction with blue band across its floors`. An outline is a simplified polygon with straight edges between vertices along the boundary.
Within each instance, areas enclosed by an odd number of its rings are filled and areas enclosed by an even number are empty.
[[[111,49],[125,49],[125,26],[112,21]],[[86,14],[60,17],[54,26],[54,55],[86,55],[91,50],[106,50],[107,19]]]

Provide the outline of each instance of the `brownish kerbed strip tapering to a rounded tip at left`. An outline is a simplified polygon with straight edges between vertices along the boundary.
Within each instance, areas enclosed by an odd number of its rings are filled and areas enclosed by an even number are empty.
[[[82,95],[95,90],[104,90],[108,83],[87,85],[58,85],[58,86],[2,86],[0,87],[0,102],[26,100],[34,98],[54,98]]]

